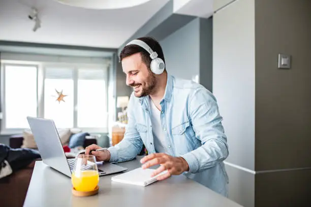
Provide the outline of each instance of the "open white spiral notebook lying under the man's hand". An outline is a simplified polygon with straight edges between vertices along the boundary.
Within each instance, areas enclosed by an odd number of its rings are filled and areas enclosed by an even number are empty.
[[[125,172],[121,175],[117,175],[111,178],[112,181],[138,185],[138,186],[147,186],[151,183],[157,181],[157,177],[165,174],[167,170],[161,172],[159,175],[151,177],[152,172],[154,169],[143,169],[141,167],[136,168],[134,170]]]

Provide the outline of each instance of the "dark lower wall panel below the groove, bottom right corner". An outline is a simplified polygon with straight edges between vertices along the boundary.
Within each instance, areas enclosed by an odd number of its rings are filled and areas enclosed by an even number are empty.
[[[257,174],[255,206],[310,206],[311,169]]]

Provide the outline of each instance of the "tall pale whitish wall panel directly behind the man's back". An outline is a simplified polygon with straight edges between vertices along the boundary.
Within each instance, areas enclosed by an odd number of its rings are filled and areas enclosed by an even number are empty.
[[[213,93],[228,137],[229,198],[255,200],[255,0],[237,0],[213,16]]]

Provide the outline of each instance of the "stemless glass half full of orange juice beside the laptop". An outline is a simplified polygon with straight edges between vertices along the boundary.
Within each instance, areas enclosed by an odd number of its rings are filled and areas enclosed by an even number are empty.
[[[99,183],[99,174],[94,155],[79,154],[76,157],[71,183],[75,190],[88,192]]]

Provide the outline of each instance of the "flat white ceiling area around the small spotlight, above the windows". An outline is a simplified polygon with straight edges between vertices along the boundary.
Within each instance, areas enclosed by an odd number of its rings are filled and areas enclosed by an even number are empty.
[[[105,1],[105,0],[102,0]],[[178,0],[177,0],[178,1]],[[91,10],[54,0],[0,0],[0,40],[118,48],[169,0],[123,9]],[[27,16],[36,7],[41,28]]]

